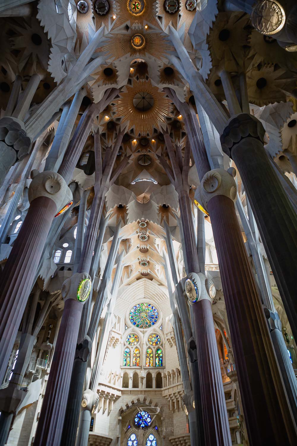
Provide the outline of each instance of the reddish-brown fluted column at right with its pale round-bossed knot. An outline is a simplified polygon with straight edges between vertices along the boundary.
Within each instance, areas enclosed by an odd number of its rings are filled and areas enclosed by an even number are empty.
[[[204,175],[195,193],[211,217],[248,438],[296,442],[282,377],[237,221],[235,169]]]

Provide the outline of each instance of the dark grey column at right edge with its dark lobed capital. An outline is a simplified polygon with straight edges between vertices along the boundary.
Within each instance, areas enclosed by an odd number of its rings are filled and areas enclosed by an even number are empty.
[[[220,140],[222,149],[239,170],[293,336],[297,339],[297,215],[269,162],[263,145],[264,134],[259,120],[241,113],[228,121]]]

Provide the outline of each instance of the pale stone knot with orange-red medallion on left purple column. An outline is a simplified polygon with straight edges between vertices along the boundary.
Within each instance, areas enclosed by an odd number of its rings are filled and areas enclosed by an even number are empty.
[[[59,173],[52,170],[39,173],[38,170],[32,170],[31,178],[33,179],[28,190],[30,203],[38,197],[50,198],[56,204],[57,215],[71,206],[72,192]]]

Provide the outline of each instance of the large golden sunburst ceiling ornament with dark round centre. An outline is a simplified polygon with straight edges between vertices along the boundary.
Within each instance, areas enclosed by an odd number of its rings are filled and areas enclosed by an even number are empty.
[[[143,99],[142,99],[143,98]],[[130,121],[135,134],[146,135],[152,128],[158,128],[159,122],[164,122],[165,116],[171,116],[171,101],[163,91],[151,84],[151,81],[133,82],[126,86],[116,103],[116,115],[124,121]]]

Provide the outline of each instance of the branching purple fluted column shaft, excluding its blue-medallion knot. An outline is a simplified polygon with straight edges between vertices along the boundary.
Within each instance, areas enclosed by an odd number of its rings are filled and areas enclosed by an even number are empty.
[[[186,247],[184,255],[187,257],[187,269],[191,273],[199,273],[199,260],[187,182],[190,165],[190,145],[187,141],[184,158],[182,159],[180,148],[176,147],[175,153],[167,132],[164,133],[164,139],[171,161],[171,168],[163,157],[160,157],[159,160],[179,194],[179,211]],[[197,342],[205,442],[209,445],[231,445],[210,299],[206,298],[198,301],[193,306],[193,314],[195,319],[193,330],[195,329]]]

